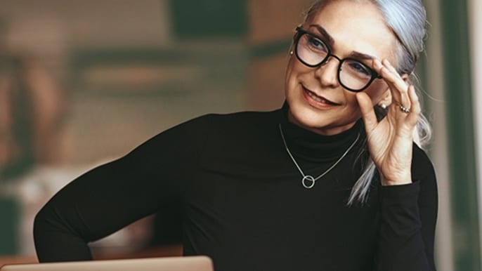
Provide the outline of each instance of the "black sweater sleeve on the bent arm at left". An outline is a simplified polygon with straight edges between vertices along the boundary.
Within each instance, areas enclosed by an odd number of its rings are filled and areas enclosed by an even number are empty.
[[[35,218],[39,261],[89,260],[89,242],[179,204],[197,163],[200,133],[202,121],[188,121],[66,185]]]

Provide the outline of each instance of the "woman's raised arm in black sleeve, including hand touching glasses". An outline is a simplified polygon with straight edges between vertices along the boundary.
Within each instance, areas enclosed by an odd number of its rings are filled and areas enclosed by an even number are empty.
[[[373,67],[389,89],[391,106],[378,121],[367,93],[357,93],[367,145],[380,177],[381,224],[377,270],[429,271],[434,267],[437,213],[436,178],[426,155],[413,144],[421,112],[414,86],[408,86],[388,60]]]

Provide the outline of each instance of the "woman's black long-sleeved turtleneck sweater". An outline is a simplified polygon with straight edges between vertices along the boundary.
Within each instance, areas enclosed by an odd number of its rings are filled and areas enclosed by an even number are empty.
[[[319,176],[360,138],[312,189]],[[185,255],[217,271],[435,270],[437,189],[431,162],[414,145],[410,185],[382,187],[347,206],[367,156],[361,121],[324,136],[273,112],[209,114],[85,173],[48,201],[34,225],[39,260],[87,260],[87,245],[139,218],[177,206]],[[169,217],[165,218],[169,220]]]

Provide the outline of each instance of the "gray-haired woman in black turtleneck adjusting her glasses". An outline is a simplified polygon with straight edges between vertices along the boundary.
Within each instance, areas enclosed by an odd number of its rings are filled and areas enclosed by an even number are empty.
[[[435,270],[408,83],[424,23],[418,0],[316,1],[282,109],[193,119],[74,180],[37,216],[39,259],[90,259],[87,242],[176,204],[185,255],[216,270]]]

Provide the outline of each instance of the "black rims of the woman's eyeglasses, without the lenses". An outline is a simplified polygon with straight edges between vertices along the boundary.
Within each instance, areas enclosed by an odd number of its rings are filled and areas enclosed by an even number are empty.
[[[375,72],[372,68],[368,67],[367,65],[363,64],[362,62],[360,62],[360,60],[358,59],[355,59],[355,58],[339,58],[337,55],[334,55],[332,53],[332,48],[330,48],[330,46],[328,46],[328,44],[325,43],[325,41],[323,41],[320,37],[318,37],[316,34],[313,34],[309,31],[306,31],[305,29],[301,28],[301,27],[297,27],[296,28],[296,31],[297,31],[297,34],[295,34],[294,36],[294,54],[297,55],[297,58],[298,60],[303,63],[304,65],[308,66],[308,67],[320,67],[320,65],[324,65],[328,59],[330,59],[330,56],[336,58],[339,62],[339,65],[338,65],[338,70],[337,70],[337,79],[338,79],[338,82],[341,86],[343,86],[344,88],[346,88],[347,90],[349,91],[353,91],[353,92],[360,92],[360,91],[364,91],[368,86],[370,86],[370,84],[372,84],[372,81],[374,81],[374,79],[382,79],[382,76],[379,75],[377,72]],[[315,65],[311,65],[311,64],[308,64],[306,62],[304,62],[304,60],[302,60],[300,58],[300,56],[298,55],[298,43],[299,43],[299,39],[301,39],[301,37],[304,35],[304,34],[308,34],[308,35],[311,35],[317,39],[320,40],[320,42],[322,42],[325,47],[327,48],[327,55],[325,56],[325,58],[323,58],[323,60],[321,60],[318,64],[315,64]],[[360,62],[361,65],[367,67],[367,69],[370,71],[372,77],[370,78],[370,80],[367,82],[367,84],[363,87],[363,88],[360,88],[360,89],[353,89],[353,88],[349,88],[347,86],[345,86],[345,84],[343,84],[341,82],[341,79],[340,79],[340,73],[341,73],[341,65],[343,65],[343,62],[345,62],[346,60],[354,60],[356,62]]]

